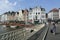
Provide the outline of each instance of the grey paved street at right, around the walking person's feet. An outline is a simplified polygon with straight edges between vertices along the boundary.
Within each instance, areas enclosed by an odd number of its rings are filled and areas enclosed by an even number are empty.
[[[53,35],[50,30],[53,27],[52,24],[49,26],[49,30],[45,40],[60,40],[60,24],[56,24],[56,35]]]

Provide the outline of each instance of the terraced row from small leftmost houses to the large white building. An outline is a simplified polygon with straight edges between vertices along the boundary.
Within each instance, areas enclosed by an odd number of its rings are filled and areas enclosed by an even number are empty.
[[[34,7],[25,10],[19,10],[18,12],[8,11],[0,15],[1,22],[9,21],[25,21],[30,23],[44,23],[46,22],[45,8]]]

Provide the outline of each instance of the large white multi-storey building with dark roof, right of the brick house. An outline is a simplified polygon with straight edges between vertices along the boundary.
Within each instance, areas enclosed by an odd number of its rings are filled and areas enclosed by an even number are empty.
[[[31,23],[43,23],[46,21],[45,9],[42,7],[35,7],[29,9],[28,20]]]

